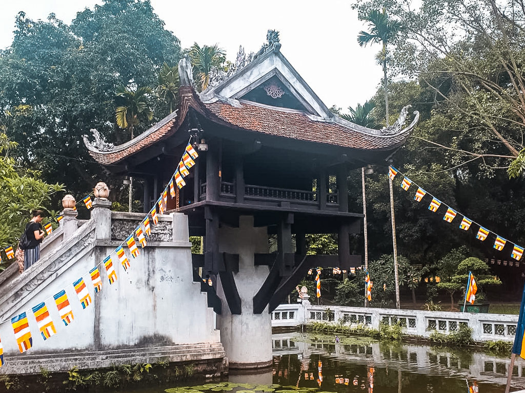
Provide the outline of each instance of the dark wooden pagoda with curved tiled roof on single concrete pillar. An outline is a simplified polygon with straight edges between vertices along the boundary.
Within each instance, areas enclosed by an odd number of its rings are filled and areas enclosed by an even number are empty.
[[[349,171],[384,161],[419,117],[414,112],[405,126],[406,106],[394,125],[371,129],[334,115],[280,47],[273,42],[248,62],[238,59],[202,93],[183,58],[176,111],[119,146],[85,137],[108,171],[143,180],[145,213],[188,140],[194,146],[196,165],[175,198],[168,195],[167,212],[186,214],[190,236],[204,236],[203,254],[192,255],[194,280],[206,287],[202,280],[211,280],[208,304],[230,367],[271,362],[269,313],[309,269],[361,266],[361,256],[350,254],[363,215],[349,211]],[[307,255],[306,235],[328,233],[338,235],[338,255]]]

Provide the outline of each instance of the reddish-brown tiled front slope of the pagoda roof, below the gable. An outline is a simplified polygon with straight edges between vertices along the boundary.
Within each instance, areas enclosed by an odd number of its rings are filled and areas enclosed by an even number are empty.
[[[272,110],[267,106],[246,102],[240,108],[223,102],[205,105],[220,119],[240,128],[334,146],[385,149],[403,143],[408,137],[408,132],[393,136],[366,134],[341,124],[313,120],[298,111]]]

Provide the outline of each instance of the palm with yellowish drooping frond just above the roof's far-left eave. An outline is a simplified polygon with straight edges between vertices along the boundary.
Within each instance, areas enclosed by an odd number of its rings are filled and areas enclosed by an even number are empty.
[[[117,88],[117,100],[121,103],[115,110],[117,125],[129,130],[132,139],[134,129],[153,118],[153,112],[148,106],[151,93],[148,86],[137,87],[135,90],[124,86]]]

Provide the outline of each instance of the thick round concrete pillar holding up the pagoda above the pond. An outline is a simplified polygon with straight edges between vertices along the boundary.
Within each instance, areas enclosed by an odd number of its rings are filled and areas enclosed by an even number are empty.
[[[268,266],[254,266],[255,253],[268,253],[266,227],[254,227],[252,216],[240,216],[238,228],[223,227],[218,231],[219,251],[239,255],[239,272],[233,273],[239,297],[241,314],[232,315],[223,307],[217,315],[220,340],[226,351],[230,368],[259,368],[271,365],[271,316],[268,306],[254,314],[253,298],[268,276]],[[226,303],[222,283],[217,295]]]

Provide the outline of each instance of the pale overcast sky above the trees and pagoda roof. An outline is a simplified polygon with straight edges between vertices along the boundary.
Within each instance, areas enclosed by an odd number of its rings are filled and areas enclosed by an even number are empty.
[[[70,23],[85,7],[102,0],[0,0],[0,48],[13,39],[19,11],[31,19],[54,12]],[[257,51],[268,29],[280,32],[281,52],[327,105],[344,109],[370,99],[381,79],[374,56],[380,46],[359,47],[356,37],[365,28],[350,0],[151,0],[155,12],[181,40],[218,43],[235,60],[239,45]],[[0,72],[2,72],[0,70]]]

